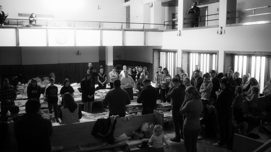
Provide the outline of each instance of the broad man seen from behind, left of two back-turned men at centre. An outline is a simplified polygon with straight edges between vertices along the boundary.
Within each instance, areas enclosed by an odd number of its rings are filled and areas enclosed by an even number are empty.
[[[121,89],[120,80],[115,79],[113,85],[114,88],[107,92],[102,104],[108,105],[109,117],[112,115],[120,115],[120,117],[125,117],[125,105],[131,103],[130,97],[127,91]]]

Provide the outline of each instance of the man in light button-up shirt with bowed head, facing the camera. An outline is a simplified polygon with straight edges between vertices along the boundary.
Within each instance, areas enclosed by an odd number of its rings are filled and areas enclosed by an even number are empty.
[[[130,100],[134,100],[133,97],[133,86],[134,80],[131,76],[128,75],[128,70],[124,71],[124,76],[121,77],[121,88],[128,92]]]

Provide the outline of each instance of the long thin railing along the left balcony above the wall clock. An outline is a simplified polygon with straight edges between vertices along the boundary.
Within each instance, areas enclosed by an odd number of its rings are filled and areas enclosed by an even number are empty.
[[[15,26],[21,26],[21,25],[27,25],[28,24],[28,19],[10,19],[7,18],[6,21],[8,21],[9,25],[15,25]],[[12,23],[12,21],[15,21]],[[62,20],[43,20],[43,19],[39,19],[37,20],[37,23],[40,22],[39,24],[37,24],[37,27],[73,27],[73,28],[78,28],[78,27],[82,27],[81,23],[87,24],[85,26],[87,26],[86,28],[89,28],[89,24],[91,24],[91,28],[102,28],[101,25],[104,25],[105,23],[111,24],[110,26],[112,26],[112,24],[116,25],[117,27],[120,26],[122,29],[123,28],[123,24],[139,24],[139,25],[143,25],[142,29],[145,29],[145,25],[169,25],[169,24],[151,24],[151,23],[128,23],[128,22],[101,22],[101,21],[62,21]],[[60,25],[60,23],[62,23]],[[65,26],[63,26],[64,24],[66,24]],[[80,26],[81,25],[81,26]],[[108,27],[106,27],[108,28]],[[109,27],[110,28],[110,27]],[[114,27],[111,27],[111,29]],[[150,28],[152,29],[152,28]]]

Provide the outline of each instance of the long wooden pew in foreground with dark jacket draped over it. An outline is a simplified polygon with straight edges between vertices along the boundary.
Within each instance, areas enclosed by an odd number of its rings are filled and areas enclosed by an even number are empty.
[[[128,137],[133,136],[133,131],[137,131],[144,121],[151,121],[154,124],[160,124],[163,126],[163,119],[163,113],[156,110],[153,111],[153,114],[135,116],[129,121],[124,121],[124,118],[118,118],[115,125],[114,137],[119,137],[123,133],[125,133]],[[91,135],[95,123],[96,121],[90,121],[85,123],[53,126],[53,134],[50,137],[51,146],[63,146],[64,149],[62,151],[97,151],[101,149],[112,149],[115,147],[127,146],[127,144],[124,143],[88,150],[80,150],[78,147],[79,145],[102,141],[102,138]]]

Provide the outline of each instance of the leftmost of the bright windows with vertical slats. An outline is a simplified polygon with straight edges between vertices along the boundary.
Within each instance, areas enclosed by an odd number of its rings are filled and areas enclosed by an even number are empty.
[[[176,67],[177,67],[177,52],[175,51],[160,51],[160,65],[163,68],[167,68],[169,70],[169,74],[172,78],[176,75]]]

